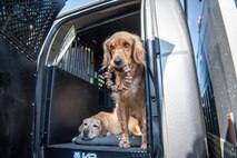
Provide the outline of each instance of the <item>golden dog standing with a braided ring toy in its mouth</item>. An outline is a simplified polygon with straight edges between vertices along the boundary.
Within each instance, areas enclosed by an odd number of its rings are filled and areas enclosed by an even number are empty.
[[[135,117],[141,129],[140,148],[147,148],[147,126],[145,107],[145,50],[140,38],[127,31],[113,33],[103,42],[102,69],[106,83],[112,92],[117,116],[121,126],[121,148],[130,147],[128,122]],[[115,82],[112,77],[115,76]]]

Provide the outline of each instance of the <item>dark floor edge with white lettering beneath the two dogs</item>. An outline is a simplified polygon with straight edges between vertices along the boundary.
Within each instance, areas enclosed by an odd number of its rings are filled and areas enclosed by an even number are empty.
[[[119,148],[117,146],[85,146],[69,144],[50,145],[45,158],[149,158],[149,152],[139,147]]]

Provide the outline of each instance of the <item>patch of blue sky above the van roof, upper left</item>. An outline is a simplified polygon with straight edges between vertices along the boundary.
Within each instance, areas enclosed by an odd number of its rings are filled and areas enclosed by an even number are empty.
[[[66,2],[66,6],[61,10],[61,13],[65,12],[65,11],[68,11],[70,9],[75,9],[79,6],[83,6],[86,3],[92,2],[92,1],[95,1],[95,0],[68,0]]]

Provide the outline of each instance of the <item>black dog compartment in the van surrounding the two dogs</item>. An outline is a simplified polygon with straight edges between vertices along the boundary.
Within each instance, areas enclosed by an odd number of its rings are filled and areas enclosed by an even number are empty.
[[[120,148],[118,144],[108,146],[107,139],[100,145],[93,140],[90,145],[72,142],[83,119],[99,111],[111,112],[115,107],[111,90],[105,85],[105,71],[100,70],[103,41],[120,30],[140,36],[140,2],[119,3],[111,3],[109,12],[71,19],[55,34],[43,75],[48,100],[42,131],[46,158],[150,157],[150,147],[142,150],[140,145]]]

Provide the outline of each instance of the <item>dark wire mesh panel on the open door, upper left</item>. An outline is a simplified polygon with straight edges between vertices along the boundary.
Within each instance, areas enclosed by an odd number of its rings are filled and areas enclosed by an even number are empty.
[[[0,30],[36,60],[51,24],[65,0],[1,0]]]

